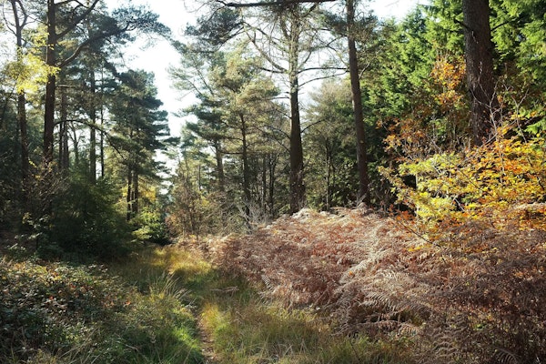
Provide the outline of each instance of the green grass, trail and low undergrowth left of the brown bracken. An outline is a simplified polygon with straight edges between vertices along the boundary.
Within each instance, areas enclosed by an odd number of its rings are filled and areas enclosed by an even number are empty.
[[[105,266],[0,257],[3,364],[401,363],[335,335],[195,251],[148,247]],[[397,359],[398,358],[398,359]]]

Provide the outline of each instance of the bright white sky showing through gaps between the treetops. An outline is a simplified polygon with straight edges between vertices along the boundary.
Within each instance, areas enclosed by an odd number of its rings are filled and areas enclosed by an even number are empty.
[[[189,12],[187,5],[192,0],[110,0],[111,7],[131,5],[147,5],[159,15],[159,21],[171,28],[177,38],[181,38],[187,24],[194,22],[195,14]],[[372,0],[370,8],[379,18],[401,18],[418,4],[427,3],[426,0]],[[184,125],[184,118],[177,117],[179,110],[190,105],[191,95],[182,95],[172,88],[172,81],[168,75],[169,66],[177,66],[179,56],[166,41],[157,41],[152,46],[145,47],[146,42],[137,42],[127,49],[126,65],[133,69],[143,69],[153,72],[156,76],[157,98],[163,102],[163,109],[168,112],[171,135],[178,136]]]

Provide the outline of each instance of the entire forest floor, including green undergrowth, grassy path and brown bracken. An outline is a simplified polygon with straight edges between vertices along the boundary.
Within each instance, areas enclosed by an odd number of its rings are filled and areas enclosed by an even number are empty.
[[[3,363],[546,362],[546,231],[527,220],[430,237],[306,209],[107,266],[0,263]]]

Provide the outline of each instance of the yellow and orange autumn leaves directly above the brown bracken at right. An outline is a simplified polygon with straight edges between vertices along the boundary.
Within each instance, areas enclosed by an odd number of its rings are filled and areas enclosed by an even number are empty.
[[[403,177],[415,177],[416,187]],[[399,202],[424,222],[469,217],[506,217],[546,197],[546,140],[542,136],[498,138],[461,153],[406,162],[389,175]]]

